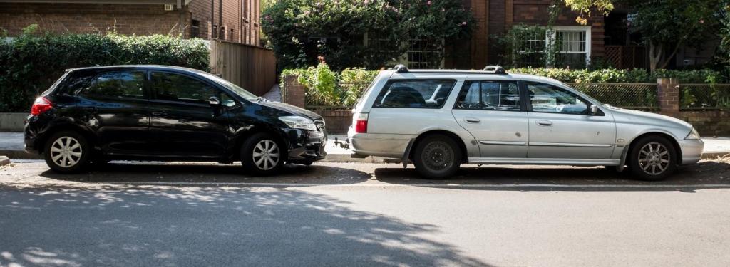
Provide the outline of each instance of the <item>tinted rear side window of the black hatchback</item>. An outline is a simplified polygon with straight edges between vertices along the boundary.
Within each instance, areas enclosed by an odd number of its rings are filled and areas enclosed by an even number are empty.
[[[90,98],[145,98],[145,71],[113,71],[97,75],[80,92]]]

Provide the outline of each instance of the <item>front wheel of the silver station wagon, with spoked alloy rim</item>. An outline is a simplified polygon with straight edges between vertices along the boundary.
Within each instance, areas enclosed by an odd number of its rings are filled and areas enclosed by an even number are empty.
[[[645,181],[666,179],[677,171],[675,146],[662,136],[644,136],[637,140],[629,151],[628,160],[631,174]]]

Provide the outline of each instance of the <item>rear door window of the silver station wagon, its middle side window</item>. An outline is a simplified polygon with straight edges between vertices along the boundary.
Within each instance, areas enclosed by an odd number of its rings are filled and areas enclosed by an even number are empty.
[[[466,81],[454,109],[520,111],[520,87],[514,81]]]

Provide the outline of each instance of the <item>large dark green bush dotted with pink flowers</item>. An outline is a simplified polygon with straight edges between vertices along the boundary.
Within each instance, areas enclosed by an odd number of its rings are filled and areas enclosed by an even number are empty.
[[[261,16],[282,69],[313,66],[320,55],[332,69],[380,69],[408,40],[443,50],[442,39],[468,36],[474,21],[458,0],[280,0]]]

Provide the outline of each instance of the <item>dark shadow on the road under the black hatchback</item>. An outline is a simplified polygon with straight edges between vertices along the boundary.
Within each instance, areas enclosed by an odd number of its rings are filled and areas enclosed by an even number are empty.
[[[112,182],[136,184],[149,182],[172,183],[190,182],[249,182],[249,183],[307,183],[307,184],[353,184],[364,182],[370,174],[353,169],[328,166],[285,165],[280,174],[269,177],[253,177],[247,174],[240,164],[215,163],[127,163],[112,162],[93,166],[88,172],[80,174],[58,174],[43,171],[42,177],[74,182]]]

